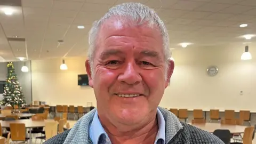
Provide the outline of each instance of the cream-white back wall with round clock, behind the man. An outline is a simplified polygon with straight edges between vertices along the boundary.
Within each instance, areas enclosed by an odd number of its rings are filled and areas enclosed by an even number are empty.
[[[241,45],[174,50],[175,69],[160,106],[256,111],[256,51],[251,47],[254,59],[241,61],[243,51]],[[86,74],[84,62],[85,58],[66,59],[68,70],[62,71],[61,59],[32,61],[33,100],[75,106],[93,102],[96,106],[93,89],[77,85],[77,75]],[[218,66],[217,76],[207,76],[211,65]]]

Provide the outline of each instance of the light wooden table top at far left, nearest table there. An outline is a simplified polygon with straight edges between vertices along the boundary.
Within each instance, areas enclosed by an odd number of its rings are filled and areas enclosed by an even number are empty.
[[[54,122],[54,120],[45,119],[44,121],[32,121],[31,119],[19,119],[15,121],[0,121],[2,127],[10,127],[10,123],[23,123],[26,128],[44,127],[45,122]]]

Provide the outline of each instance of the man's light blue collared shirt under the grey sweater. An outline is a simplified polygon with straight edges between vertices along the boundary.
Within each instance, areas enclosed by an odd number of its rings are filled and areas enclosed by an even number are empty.
[[[155,144],[165,144],[165,120],[161,111],[157,108],[157,122],[158,132],[156,135]],[[100,119],[98,117],[98,111],[95,112],[92,123],[90,125],[90,138],[93,144],[110,144],[111,141],[108,138],[108,134],[103,129]]]

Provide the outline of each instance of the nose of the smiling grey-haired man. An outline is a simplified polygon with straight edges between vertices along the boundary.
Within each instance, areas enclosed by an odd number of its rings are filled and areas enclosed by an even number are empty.
[[[123,73],[118,76],[119,82],[124,82],[127,84],[138,84],[142,81],[140,74],[133,62],[127,63],[124,67]]]

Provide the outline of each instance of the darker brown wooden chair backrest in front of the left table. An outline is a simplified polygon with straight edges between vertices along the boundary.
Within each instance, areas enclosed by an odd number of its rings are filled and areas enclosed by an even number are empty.
[[[26,127],[21,123],[10,123],[10,130],[12,133],[12,141],[25,141]]]

